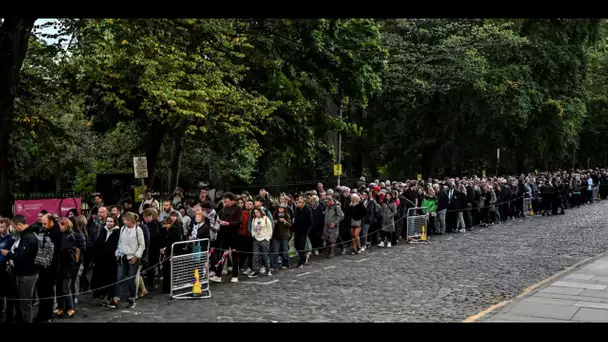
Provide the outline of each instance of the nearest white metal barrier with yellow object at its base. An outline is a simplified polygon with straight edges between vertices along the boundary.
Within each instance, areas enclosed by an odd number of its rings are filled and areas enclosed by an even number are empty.
[[[184,247],[189,253],[180,253]],[[171,247],[170,267],[172,299],[211,298],[209,239],[174,243]]]

